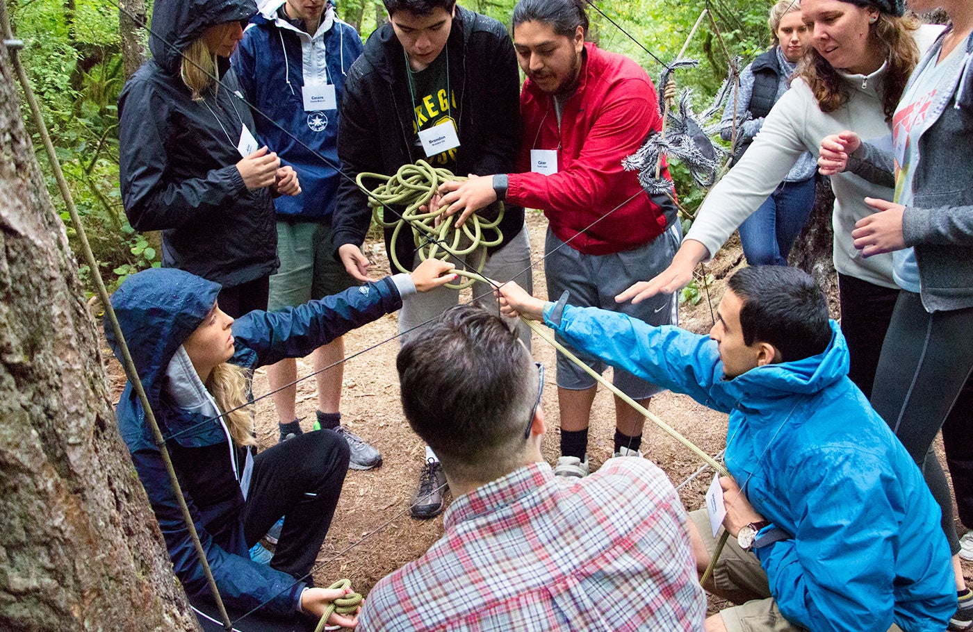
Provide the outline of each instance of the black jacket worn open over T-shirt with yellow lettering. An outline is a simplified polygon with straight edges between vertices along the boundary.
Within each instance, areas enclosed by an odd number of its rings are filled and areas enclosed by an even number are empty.
[[[507,29],[493,18],[457,6],[447,48],[450,86],[459,103],[456,175],[513,173],[521,149],[521,80]],[[344,244],[361,246],[371,223],[368,196],[355,185],[355,177],[363,172],[392,175],[402,165],[425,158],[414,146],[414,116],[405,51],[392,25],[384,24],[369,37],[344,82],[338,157],[347,177],[342,178],[331,219],[336,257]],[[493,204],[480,213],[488,218],[496,212]],[[391,221],[389,213],[385,215]],[[520,234],[523,207],[507,204],[499,228],[503,243],[490,252]],[[386,247],[391,234],[386,228]],[[400,237],[397,250],[399,262],[411,266],[413,240]]]

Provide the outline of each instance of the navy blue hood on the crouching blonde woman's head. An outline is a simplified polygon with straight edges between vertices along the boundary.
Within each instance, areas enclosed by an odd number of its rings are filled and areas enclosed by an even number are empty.
[[[196,331],[219,292],[218,283],[174,267],[161,267],[132,274],[112,295],[112,307],[153,407],[160,402],[163,377],[173,355]],[[115,356],[121,358],[118,339],[107,319],[105,337]]]

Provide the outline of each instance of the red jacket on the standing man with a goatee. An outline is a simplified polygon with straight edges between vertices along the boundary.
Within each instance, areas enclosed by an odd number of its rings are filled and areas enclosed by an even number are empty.
[[[529,79],[523,84],[522,173],[510,174],[507,199],[543,209],[551,230],[575,250],[607,255],[637,248],[666,230],[663,210],[642,190],[638,174],[622,168],[622,159],[638,151],[650,131],[662,129],[662,115],[652,80],[638,64],[591,43],[585,52],[560,129],[554,99]],[[558,173],[530,173],[532,149],[557,149]]]

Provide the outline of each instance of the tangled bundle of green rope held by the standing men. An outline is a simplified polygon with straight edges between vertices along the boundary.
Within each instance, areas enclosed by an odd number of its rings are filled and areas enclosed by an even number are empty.
[[[380,184],[369,189],[364,184],[366,180],[378,180]],[[499,246],[503,241],[503,233],[497,228],[503,219],[503,203],[500,204],[500,213],[492,222],[474,213],[459,228],[455,226],[455,215],[444,216],[445,206],[421,212],[420,207],[429,203],[439,186],[450,180],[466,178],[456,177],[449,169],[433,167],[425,160],[403,165],[394,176],[359,173],[355,178],[362,191],[368,193],[368,204],[372,208],[375,221],[384,228],[392,228],[388,250],[395,268],[400,272],[409,272],[411,269],[403,265],[396,254],[396,244],[403,227],[411,227],[420,261],[442,259],[449,254],[467,269],[477,272],[476,278],[468,277],[458,284],[446,285],[453,290],[462,290],[482,278],[479,273],[483,272],[486,264],[486,249]],[[392,205],[405,206],[406,209],[402,213],[402,219],[386,222],[379,211]],[[477,263],[471,266],[465,259],[467,256],[472,256]]]

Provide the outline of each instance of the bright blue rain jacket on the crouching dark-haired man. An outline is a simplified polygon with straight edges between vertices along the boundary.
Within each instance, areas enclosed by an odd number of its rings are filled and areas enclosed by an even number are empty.
[[[572,346],[729,413],[727,469],[792,536],[755,549],[788,620],[815,632],[946,629],[956,593],[939,507],[847,378],[836,323],[823,353],[727,380],[706,335],[560,305],[548,303],[545,321]]]

